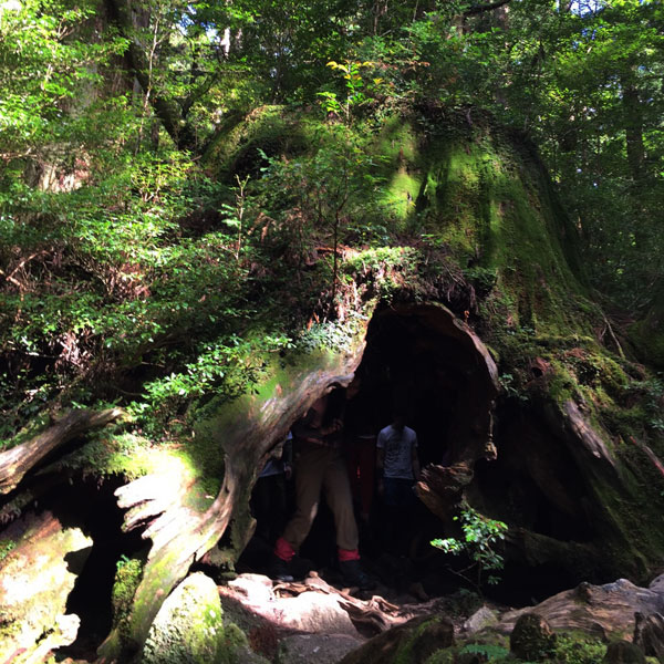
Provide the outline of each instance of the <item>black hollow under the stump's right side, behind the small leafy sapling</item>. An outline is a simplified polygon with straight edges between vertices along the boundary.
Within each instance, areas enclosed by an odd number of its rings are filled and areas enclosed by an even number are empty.
[[[477,461],[467,491],[478,509],[563,546],[593,541],[596,528],[591,489],[568,443],[551,429],[537,406],[499,402],[494,434],[498,455],[492,461]],[[570,553],[553,542],[533,542],[528,548],[533,550],[512,551],[513,557],[506,557],[500,583],[488,590],[490,596],[526,605],[582,581],[611,580],[595,566],[574,564]]]

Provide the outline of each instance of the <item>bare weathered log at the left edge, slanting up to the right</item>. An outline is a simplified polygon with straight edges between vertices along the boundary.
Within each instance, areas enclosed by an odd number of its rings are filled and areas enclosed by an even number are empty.
[[[86,430],[105,426],[123,414],[121,408],[70,411],[31,440],[0,453],[0,494],[9,494],[14,489],[25,474],[49,453]]]

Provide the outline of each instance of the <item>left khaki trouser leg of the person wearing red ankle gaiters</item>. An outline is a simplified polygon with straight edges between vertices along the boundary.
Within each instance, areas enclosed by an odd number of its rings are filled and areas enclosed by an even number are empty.
[[[318,512],[328,465],[329,449],[322,446],[303,447],[295,465],[295,513],[291,517],[283,539],[298,551],[307,539]]]

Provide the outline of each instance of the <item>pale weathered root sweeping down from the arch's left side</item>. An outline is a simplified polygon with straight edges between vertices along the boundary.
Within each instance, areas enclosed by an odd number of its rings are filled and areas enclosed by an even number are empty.
[[[351,382],[363,350],[364,334],[359,334],[354,345],[332,356],[326,366],[304,365],[284,374],[267,401],[253,395],[240,397],[197,432],[197,436],[209,437],[210,445],[225,458],[224,484],[207,511],[187,507],[186,487],[174,486],[173,477],[143,477],[116,491],[120,507],[128,508],[124,528],[147,523],[142,537],[152,539],[153,546],[134,595],[128,642],[114,630],[97,651],[100,664],[141,651],[170,591],[190,566],[215,547],[231,519],[242,520],[247,487],[252,486],[269,449],[331,385]]]

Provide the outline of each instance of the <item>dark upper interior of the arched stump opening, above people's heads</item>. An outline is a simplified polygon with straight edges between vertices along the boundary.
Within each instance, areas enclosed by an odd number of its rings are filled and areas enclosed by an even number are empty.
[[[387,309],[369,325],[357,398],[376,433],[406,414],[423,466],[456,460],[478,425],[490,432],[496,388],[471,339],[436,307]]]

